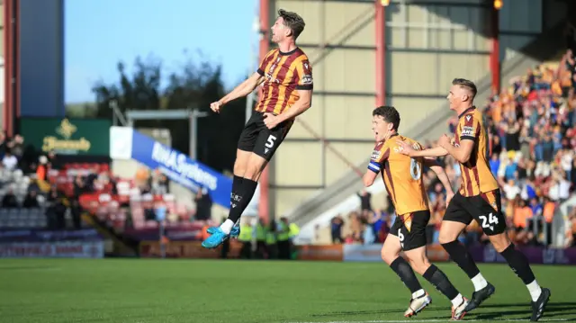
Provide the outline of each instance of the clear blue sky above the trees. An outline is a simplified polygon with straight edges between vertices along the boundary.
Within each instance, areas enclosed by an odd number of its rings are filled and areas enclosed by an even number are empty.
[[[65,5],[66,103],[94,101],[94,83],[117,82],[117,63],[132,67],[138,56],[162,59],[167,75],[200,49],[222,65],[228,87],[255,64],[256,0],[67,0]]]

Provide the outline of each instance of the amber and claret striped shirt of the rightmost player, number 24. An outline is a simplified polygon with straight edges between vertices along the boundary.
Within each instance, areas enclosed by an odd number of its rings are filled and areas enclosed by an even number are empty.
[[[459,147],[462,140],[473,140],[474,148],[470,159],[460,164],[462,170],[463,196],[476,196],[499,189],[498,182],[488,164],[488,131],[482,120],[482,113],[472,107],[458,117],[455,146]]]

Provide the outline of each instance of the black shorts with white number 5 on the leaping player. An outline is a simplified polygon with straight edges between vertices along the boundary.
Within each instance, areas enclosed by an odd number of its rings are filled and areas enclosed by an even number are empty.
[[[286,138],[293,122],[293,120],[284,121],[275,128],[268,129],[264,123],[264,113],[252,112],[238,139],[238,149],[253,152],[270,161]]]

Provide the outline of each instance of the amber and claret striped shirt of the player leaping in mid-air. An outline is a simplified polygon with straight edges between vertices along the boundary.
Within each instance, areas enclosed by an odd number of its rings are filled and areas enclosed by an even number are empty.
[[[312,67],[300,48],[287,53],[280,49],[270,50],[262,59],[257,73],[265,77],[257,112],[285,112],[300,98],[296,90],[311,90],[313,87]]]

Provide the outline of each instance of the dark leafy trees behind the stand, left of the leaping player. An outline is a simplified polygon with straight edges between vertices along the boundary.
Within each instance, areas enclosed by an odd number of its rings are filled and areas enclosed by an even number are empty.
[[[98,118],[112,120],[110,103],[116,101],[122,113],[127,110],[180,110],[195,105],[208,117],[198,120],[198,159],[214,169],[231,171],[236,156],[238,136],[244,126],[246,98],[226,105],[220,114],[210,111],[210,103],[226,94],[221,80],[221,67],[205,58],[187,58],[185,63],[165,76],[162,61],[138,57],[131,74],[123,62],[117,65],[117,83],[96,83]],[[160,80],[167,80],[162,88]],[[135,127],[166,128],[170,130],[174,148],[189,153],[190,127],[188,121],[138,121]]]

